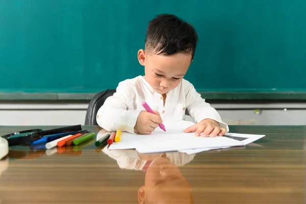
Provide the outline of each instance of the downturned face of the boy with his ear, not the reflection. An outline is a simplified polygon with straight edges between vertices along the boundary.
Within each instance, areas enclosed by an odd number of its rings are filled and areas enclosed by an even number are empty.
[[[150,55],[140,49],[138,60],[144,66],[144,79],[157,93],[164,94],[180,84],[190,66],[191,54]]]

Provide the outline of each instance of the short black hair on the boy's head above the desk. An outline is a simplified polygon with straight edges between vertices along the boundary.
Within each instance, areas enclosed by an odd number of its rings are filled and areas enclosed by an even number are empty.
[[[195,53],[198,37],[191,24],[172,14],[152,19],[145,36],[145,49],[158,55]]]

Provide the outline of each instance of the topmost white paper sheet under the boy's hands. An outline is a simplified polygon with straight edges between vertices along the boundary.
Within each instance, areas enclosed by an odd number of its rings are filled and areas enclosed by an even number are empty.
[[[146,154],[183,149],[193,150],[197,148],[222,148],[244,145],[241,141],[226,137],[196,137],[194,133],[184,133],[184,129],[193,124],[190,121],[165,123],[166,132],[158,128],[150,135],[121,133],[120,142],[114,142],[109,149],[135,148],[141,154]]]

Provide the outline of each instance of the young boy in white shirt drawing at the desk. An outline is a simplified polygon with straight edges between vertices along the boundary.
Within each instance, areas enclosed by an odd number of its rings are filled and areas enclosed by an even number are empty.
[[[183,79],[196,43],[194,28],[180,18],[164,14],[152,19],[146,31],[145,49],[138,51],[144,76],[120,82],[116,93],[98,110],[97,123],[107,131],[150,134],[163,121],[184,120],[187,108],[197,123],[184,132],[202,137],[223,136],[228,131],[227,124]],[[156,114],[145,111],[143,101]]]

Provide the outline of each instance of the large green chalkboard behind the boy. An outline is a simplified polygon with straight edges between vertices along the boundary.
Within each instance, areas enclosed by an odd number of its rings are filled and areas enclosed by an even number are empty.
[[[305,91],[305,0],[0,1],[1,92],[96,92],[143,74],[147,23],[172,13],[199,42],[202,91]]]

